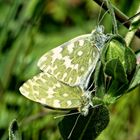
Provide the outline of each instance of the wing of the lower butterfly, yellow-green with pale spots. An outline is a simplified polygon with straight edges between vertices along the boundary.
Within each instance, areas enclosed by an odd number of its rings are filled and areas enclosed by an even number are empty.
[[[25,82],[20,92],[32,101],[55,109],[78,109],[83,104],[79,87],[70,87],[43,72]]]

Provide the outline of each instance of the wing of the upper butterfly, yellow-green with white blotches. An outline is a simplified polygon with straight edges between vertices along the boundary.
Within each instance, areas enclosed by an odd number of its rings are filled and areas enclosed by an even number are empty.
[[[69,84],[86,85],[99,59],[99,51],[90,40],[91,34],[74,38],[44,54],[39,68]]]

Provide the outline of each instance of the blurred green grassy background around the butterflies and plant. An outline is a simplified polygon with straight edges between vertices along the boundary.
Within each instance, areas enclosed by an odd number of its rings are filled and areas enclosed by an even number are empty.
[[[112,0],[127,16],[135,14],[139,0]],[[0,0],[0,139],[8,139],[13,119],[19,122],[23,140],[59,140],[60,115],[29,101],[19,93],[27,79],[39,73],[38,59],[51,48],[98,24],[100,7],[92,0]],[[102,11],[102,14],[104,11]],[[100,23],[111,32],[107,14]],[[122,36],[128,30],[119,23]],[[140,49],[140,39],[131,47]],[[140,88],[111,105],[110,124],[98,140],[140,140]]]

